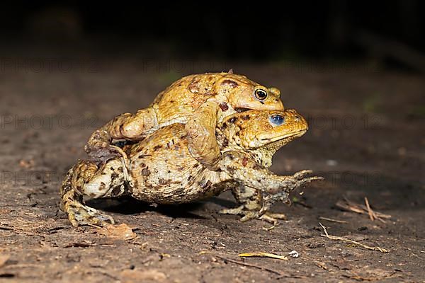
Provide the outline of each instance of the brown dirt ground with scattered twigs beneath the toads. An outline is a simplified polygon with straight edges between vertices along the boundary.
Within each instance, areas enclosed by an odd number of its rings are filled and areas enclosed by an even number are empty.
[[[423,77],[378,68],[171,63],[2,65],[0,282],[425,282]],[[278,151],[272,170],[310,168],[326,181],[294,192],[290,207],[274,207],[288,220],[268,230],[261,221],[217,214],[234,205],[225,192],[180,206],[91,201],[132,227],[127,239],[69,224],[58,207],[60,183],[84,158],[96,127],[144,108],[183,74],[229,68],[280,88],[286,108],[310,123],[304,137]],[[342,211],[336,202],[344,197],[356,204],[368,197],[391,218]],[[388,253],[325,238],[319,222],[330,235]],[[297,258],[288,255],[293,250]],[[238,256],[248,252],[288,260]]]

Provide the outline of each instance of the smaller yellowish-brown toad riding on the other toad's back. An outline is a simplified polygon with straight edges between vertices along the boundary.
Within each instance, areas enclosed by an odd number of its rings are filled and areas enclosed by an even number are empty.
[[[94,132],[86,152],[99,163],[115,156],[126,158],[111,144],[113,139],[140,141],[166,125],[181,123],[186,125],[187,146],[193,158],[218,170],[220,147],[215,127],[223,117],[248,109],[283,110],[280,91],[232,71],[185,76],[159,93],[148,108],[118,115]]]

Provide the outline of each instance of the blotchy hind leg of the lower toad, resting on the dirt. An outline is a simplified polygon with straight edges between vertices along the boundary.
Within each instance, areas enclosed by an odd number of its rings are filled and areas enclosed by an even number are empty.
[[[73,226],[103,226],[106,222],[113,224],[111,216],[85,205],[83,196],[98,198],[123,195],[124,183],[123,163],[118,158],[111,159],[100,169],[91,161],[79,161],[68,171],[62,183],[60,208]]]

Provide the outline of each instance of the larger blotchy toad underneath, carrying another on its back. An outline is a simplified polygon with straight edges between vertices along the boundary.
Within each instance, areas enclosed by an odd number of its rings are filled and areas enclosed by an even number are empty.
[[[100,168],[92,161],[79,161],[69,170],[61,189],[61,208],[74,226],[103,224],[111,216],[82,203],[82,196],[131,195],[157,204],[192,202],[232,190],[240,204],[222,213],[242,214],[242,221],[259,218],[276,222],[271,205],[288,201],[288,192],[319,180],[305,178],[311,171],[276,175],[268,170],[281,146],[302,136],[307,122],[295,110],[248,110],[225,117],[216,127],[222,158],[220,171],[203,166],[190,154],[184,125],[166,126],[143,141],[124,146],[123,158],[112,158]]]

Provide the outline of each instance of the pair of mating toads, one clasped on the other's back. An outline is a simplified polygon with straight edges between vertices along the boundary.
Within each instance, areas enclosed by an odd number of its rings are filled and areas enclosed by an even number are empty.
[[[171,204],[232,190],[239,207],[220,213],[276,224],[283,214],[268,212],[271,205],[321,179],[306,177],[308,170],[268,170],[273,154],[307,128],[295,110],[284,110],[277,88],[232,71],[186,76],[148,108],[118,115],[91,135],[88,160],[62,183],[61,209],[74,226],[103,225],[112,217],[86,206],[83,196]]]

